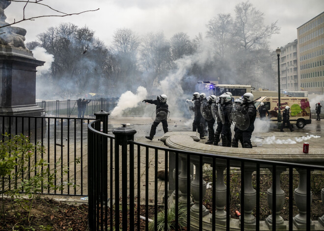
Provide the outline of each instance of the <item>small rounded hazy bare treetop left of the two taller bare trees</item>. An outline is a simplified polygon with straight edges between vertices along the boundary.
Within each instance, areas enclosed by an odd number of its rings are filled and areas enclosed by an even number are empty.
[[[170,39],[170,44],[171,57],[173,60],[193,53],[193,46],[187,33],[179,32],[174,34]]]

